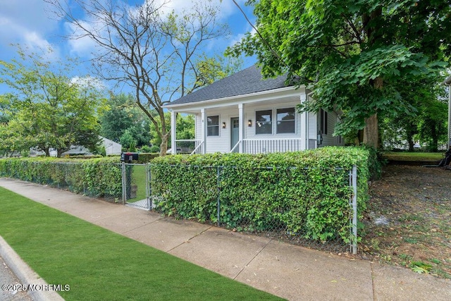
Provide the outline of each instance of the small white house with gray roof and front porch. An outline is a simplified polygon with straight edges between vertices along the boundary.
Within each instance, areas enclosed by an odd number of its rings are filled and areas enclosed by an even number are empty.
[[[262,79],[249,67],[165,106],[171,111],[171,152],[292,152],[344,145],[332,135],[338,114],[321,109],[298,113],[310,99],[306,87],[285,84],[286,76]],[[195,140],[176,140],[175,116],[195,116]]]

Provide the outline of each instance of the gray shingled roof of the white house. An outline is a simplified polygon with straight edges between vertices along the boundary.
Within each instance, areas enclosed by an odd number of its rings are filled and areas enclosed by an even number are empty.
[[[184,97],[176,99],[167,106],[203,102],[206,100],[221,99],[224,97],[233,97],[288,87],[288,85],[285,85],[286,78],[286,75],[282,75],[278,78],[268,78],[264,80],[261,78],[260,69],[254,65],[187,94]]]

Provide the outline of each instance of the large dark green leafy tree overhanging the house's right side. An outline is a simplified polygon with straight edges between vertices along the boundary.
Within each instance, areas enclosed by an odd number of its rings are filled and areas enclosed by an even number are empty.
[[[434,78],[451,52],[447,0],[249,0],[257,16],[250,33],[228,49],[257,55],[266,76],[288,72],[307,85],[319,108],[343,112],[336,132],[363,129],[363,142],[378,147],[378,115],[411,111],[404,82]]]

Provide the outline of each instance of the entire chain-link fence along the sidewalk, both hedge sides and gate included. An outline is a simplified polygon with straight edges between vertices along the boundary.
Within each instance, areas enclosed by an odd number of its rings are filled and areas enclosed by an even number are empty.
[[[159,168],[157,164],[34,163],[26,166],[26,173],[11,168],[1,176],[321,250],[346,252],[347,243],[337,235],[315,236],[342,227],[349,233],[351,252],[357,252],[355,167],[316,172],[268,167],[243,173],[233,166],[183,165],[166,169],[170,174],[166,181],[159,180]],[[333,177],[333,185],[321,175]]]

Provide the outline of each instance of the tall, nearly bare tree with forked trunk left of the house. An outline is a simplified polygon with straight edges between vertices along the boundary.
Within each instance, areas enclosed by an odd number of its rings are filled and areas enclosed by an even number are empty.
[[[209,68],[216,64],[203,58],[202,49],[226,35],[226,26],[217,21],[218,6],[199,0],[190,11],[163,17],[164,4],[158,0],[133,7],[115,0],[45,1],[75,29],[70,38],[87,37],[97,44],[94,66],[101,77],[132,87],[137,106],[161,140],[160,154],[166,154],[171,132],[163,105],[216,77],[217,69]]]

